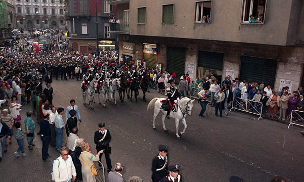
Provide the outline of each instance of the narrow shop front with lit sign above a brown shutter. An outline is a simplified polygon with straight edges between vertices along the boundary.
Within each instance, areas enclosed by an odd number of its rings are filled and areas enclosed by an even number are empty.
[[[157,64],[156,44],[144,43],[144,61],[147,68],[155,68]]]

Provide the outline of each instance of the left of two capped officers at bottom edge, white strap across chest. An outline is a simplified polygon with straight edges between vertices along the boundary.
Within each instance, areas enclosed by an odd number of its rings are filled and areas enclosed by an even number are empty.
[[[152,160],[152,181],[159,182],[167,173],[168,167],[168,146],[160,145],[158,146],[159,154],[155,156]]]

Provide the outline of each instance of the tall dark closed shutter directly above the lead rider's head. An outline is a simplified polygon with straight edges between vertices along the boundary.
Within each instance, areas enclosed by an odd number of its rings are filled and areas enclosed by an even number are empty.
[[[167,71],[176,73],[176,83],[180,82],[180,77],[185,73],[186,51],[184,48],[169,48],[167,54]]]

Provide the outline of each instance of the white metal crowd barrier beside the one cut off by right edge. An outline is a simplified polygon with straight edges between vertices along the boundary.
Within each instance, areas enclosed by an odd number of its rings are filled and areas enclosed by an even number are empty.
[[[254,107],[254,103],[257,103],[255,107]],[[260,107],[260,109],[258,109],[258,107]],[[263,119],[262,117],[263,104],[249,99],[234,97],[232,100],[232,108],[230,109],[229,112],[231,112],[231,110],[239,110],[239,111],[255,114],[259,116],[257,120]]]

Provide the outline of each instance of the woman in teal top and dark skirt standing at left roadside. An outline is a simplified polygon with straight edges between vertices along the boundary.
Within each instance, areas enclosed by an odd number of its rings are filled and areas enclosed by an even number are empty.
[[[31,116],[32,116],[32,112],[27,111],[26,118],[24,119],[24,125],[25,125],[25,129],[26,129],[26,133],[27,133],[26,139],[27,139],[29,150],[33,150],[32,146],[35,146],[33,144],[33,140],[35,138],[34,130],[35,130],[36,126],[35,126],[34,120],[31,118]]]

